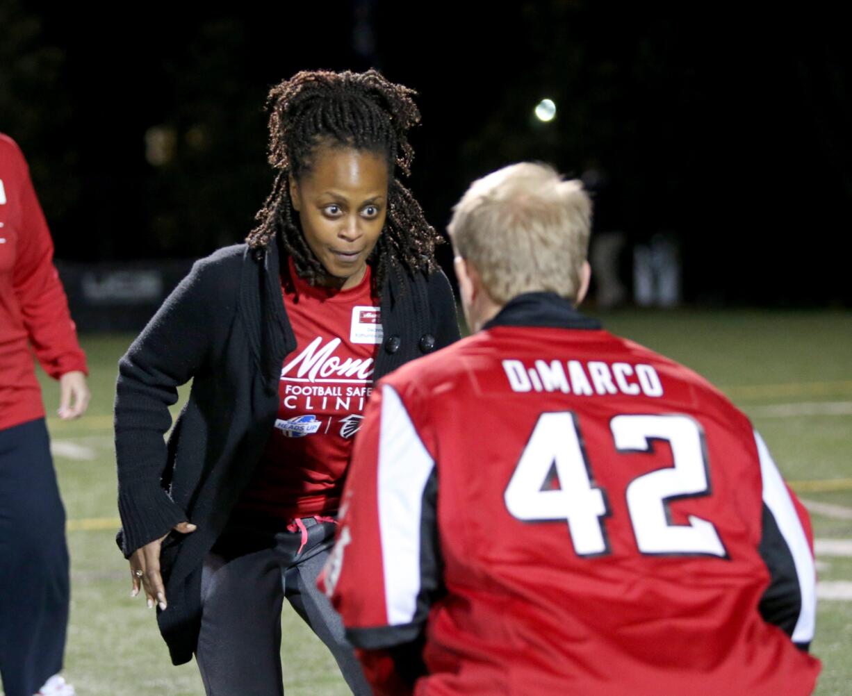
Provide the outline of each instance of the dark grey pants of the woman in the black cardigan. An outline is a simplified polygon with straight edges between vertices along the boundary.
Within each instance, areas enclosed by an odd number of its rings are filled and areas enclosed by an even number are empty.
[[[232,524],[207,556],[195,657],[208,696],[282,696],[281,605],[285,597],[331,650],[352,692],[371,694],[340,617],[316,586],[335,526],[313,519],[304,524],[304,540],[300,532],[274,533]]]

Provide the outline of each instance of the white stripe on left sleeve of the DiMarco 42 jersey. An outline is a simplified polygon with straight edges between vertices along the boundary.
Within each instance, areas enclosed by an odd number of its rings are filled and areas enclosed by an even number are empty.
[[[378,448],[378,521],[390,625],[410,624],[420,592],[423,489],[435,462],[393,388],[382,388]]]

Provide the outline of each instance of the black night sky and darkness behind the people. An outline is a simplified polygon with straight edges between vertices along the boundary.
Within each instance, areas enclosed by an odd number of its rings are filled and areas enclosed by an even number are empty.
[[[419,92],[409,183],[435,227],[476,176],[543,159],[604,176],[596,229],[676,235],[688,302],[852,306],[845,24],[817,5],[681,6],[3,0],[0,130],[58,258],[204,256],[245,237],[272,184],[268,89],[375,66]],[[152,128],[174,139],[164,164]]]

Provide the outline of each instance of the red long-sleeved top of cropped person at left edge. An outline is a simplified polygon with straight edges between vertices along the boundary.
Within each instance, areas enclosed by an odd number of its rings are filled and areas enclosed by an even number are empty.
[[[54,379],[86,372],[29,168],[0,133],[0,429],[44,415],[31,346]]]

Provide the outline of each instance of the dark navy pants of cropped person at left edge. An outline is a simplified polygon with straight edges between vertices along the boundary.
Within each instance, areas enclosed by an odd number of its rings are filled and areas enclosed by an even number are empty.
[[[68,624],[65,509],[44,419],[0,430],[0,674],[32,696],[62,669]]]

